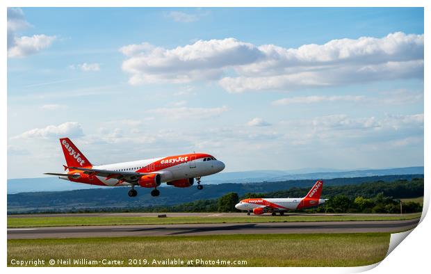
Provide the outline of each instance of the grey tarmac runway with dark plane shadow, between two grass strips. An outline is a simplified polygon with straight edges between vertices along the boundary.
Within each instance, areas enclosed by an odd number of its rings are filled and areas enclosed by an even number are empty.
[[[418,222],[419,219],[344,222],[33,227],[8,229],[8,239],[87,238],[114,236],[197,236],[218,234],[401,232],[416,227]]]

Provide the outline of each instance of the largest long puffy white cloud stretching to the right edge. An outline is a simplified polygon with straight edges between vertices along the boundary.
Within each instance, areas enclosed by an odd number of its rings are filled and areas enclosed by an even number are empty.
[[[229,92],[245,92],[423,78],[423,35],[400,32],[296,49],[226,38],[174,49],[143,43],[120,51],[127,56],[122,69],[131,74],[131,84],[219,80]]]

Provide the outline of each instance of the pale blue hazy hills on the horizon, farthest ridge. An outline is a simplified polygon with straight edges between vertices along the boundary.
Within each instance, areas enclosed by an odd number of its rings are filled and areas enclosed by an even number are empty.
[[[423,166],[389,168],[382,170],[333,170],[329,168],[302,170],[251,170],[243,172],[221,172],[202,179],[203,184],[279,182],[298,179],[333,179],[382,175],[423,174]],[[8,194],[35,191],[73,191],[100,188],[88,184],[76,184],[58,177],[8,179]]]

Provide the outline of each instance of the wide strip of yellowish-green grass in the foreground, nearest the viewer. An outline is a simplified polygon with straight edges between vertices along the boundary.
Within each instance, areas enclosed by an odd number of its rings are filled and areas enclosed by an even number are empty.
[[[49,259],[70,258],[123,260],[120,266],[160,266],[152,264],[153,259],[168,258],[185,263],[196,259],[247,261],[241,266],[364,266],[384,259],[389,239],[389,233],[33,239],[8,240],[7,251],[8,266],[13,266],[12,259],[44,259],[41,266],[49,266]],[[129,265],[129,259],[146,259],[148,264]]]

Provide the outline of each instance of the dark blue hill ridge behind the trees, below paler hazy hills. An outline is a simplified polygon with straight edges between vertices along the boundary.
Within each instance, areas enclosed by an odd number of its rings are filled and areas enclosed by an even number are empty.
[[[325,186],[342,186],[377,181],[394,182],[400,179],[412,180],[413,178],[423,178],[423,175],[386,175],[325,179]],[[268,193],[288,190],[293,187],[311,188],[314,183],[314,179],[302,179],[249,184],[214,184],[204,186],[202,191],[198,191],[195,186],[190,188],[167,186],[161,188],[161,195],[159,197],[149,195],[150,189],[148,188],[137,188],[138,196],[135,198],[129,198],[127,195],[129,188],[124,187],[17,193],[8,194],[8,213],[172,205],[195,200],[215,199],[229,192],[236,192],[241,196],[245,193]],[[323,188],[323,193],[325,193],[325,187]],[[303,193],[303,195],[305,194],[307,193]]]

